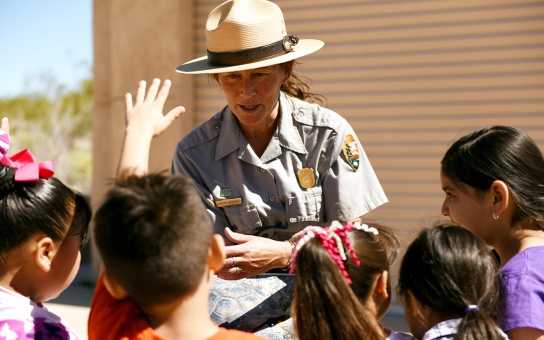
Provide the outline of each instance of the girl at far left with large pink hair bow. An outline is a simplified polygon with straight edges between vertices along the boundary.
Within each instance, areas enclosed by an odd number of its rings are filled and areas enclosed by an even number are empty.
[[[52,162],[28,150],[8,156],[8,120],[0,126],[0,332],[4,339],[78,339],[42,303],[74,279],[87,241],[86,199],[52,177]]]

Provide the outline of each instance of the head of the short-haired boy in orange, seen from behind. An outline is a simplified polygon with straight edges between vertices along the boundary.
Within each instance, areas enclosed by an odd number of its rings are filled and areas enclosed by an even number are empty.
[[[208,265],[216,270],[223,263],[209,264],[218,238],[194,185],[181,175],[121,178],[94,219],[106,287],[115,280],[141,307],[193,293]]]

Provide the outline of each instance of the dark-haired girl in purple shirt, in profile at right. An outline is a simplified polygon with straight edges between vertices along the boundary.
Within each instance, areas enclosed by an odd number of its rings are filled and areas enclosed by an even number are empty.
[[[489,126],[458,139],[441,167],[442,214],[500,257],[510,339],[544,339],[544,158],[523,131]]]

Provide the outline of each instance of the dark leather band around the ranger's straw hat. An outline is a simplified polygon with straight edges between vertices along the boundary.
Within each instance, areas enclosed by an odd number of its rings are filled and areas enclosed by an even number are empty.
[[[289,53],[293,46],[298,44],[296,35],[285,36],[282,40],[265,46],[250,48],[236,52],[208,52],[208,61],[213,65],[237,66],[249,64],[263,59],[272,58],[280,54]]]

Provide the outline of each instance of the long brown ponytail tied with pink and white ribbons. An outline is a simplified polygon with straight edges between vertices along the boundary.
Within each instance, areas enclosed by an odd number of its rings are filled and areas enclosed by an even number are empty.
[[[375,317],[353,292],[344,267],[344,262],[359,264],[345,234],[351,227],[308,227],[293,237],[292,316],[300,340],[384,338]]]

